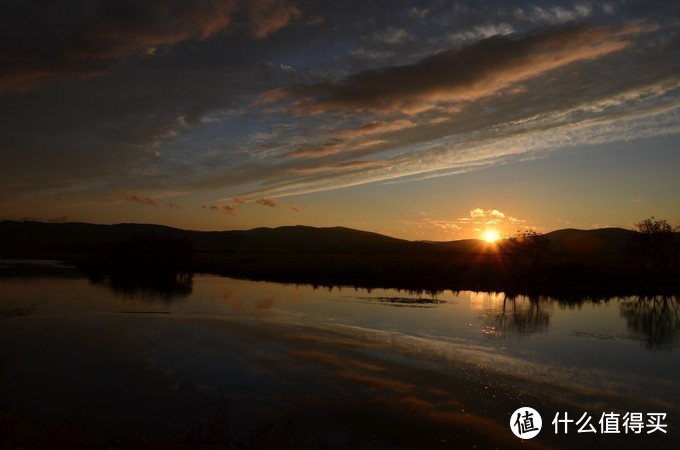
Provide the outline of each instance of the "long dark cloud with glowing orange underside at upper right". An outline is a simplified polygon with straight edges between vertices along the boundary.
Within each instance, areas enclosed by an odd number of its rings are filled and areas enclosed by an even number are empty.
[[[575,61],[631,45],[640,27],[571,26],[524,36],[497,36],[434,53],[414,64],[368,70],[339,82],[270,91],[263,101],[293,100],[297,114],[353,111],[414,114],[467,102]]]

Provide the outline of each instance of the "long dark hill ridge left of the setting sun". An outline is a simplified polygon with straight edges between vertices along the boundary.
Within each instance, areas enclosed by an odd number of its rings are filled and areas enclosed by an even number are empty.
[[[135,235],[189,239],[200,252],[428,253],[433,245],[344,227],[285,226],[244,231],[187,231],[161,225],[0,222],[0,254],[68,254]]]

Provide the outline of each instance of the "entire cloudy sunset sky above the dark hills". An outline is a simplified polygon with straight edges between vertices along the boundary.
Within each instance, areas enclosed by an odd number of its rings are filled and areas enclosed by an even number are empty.
[[[680,224],[680,2],[9,0],[0,219]]]

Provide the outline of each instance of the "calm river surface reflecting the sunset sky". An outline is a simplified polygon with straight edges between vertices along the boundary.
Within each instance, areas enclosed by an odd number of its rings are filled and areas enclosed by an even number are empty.
[[[179,288],[0,279],[0,395],[101,433],[185,436],[227,399],[233,439],[295,421],[365,448],[674,448],[675,297],[571,301],[200,275]],[[511,413],[544,431],[522,444]],[[669,433],[556,435],[563,411],[665,412]]]

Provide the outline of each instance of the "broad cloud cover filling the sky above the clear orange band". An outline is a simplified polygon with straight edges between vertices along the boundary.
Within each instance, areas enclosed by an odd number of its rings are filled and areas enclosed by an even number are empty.
[[[215,190],[287,209],[290,193],[677,133],[671,3],[2,2],[0,210],[87,220],[123,192]]]

